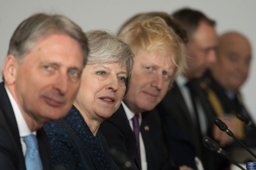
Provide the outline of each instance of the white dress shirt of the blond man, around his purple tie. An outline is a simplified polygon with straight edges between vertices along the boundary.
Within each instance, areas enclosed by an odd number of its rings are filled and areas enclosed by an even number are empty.
[[[124,108],[124,112],[126,113],[127,119],[129,120],[130,127],[133,130],[132,118],[134,117],[134,113],[132,111],[130,111],[130,109],[126,106],[126,104],[124,104],[123,101],[122,101],[122,105]],[[141,115],[141,113],[139,113],[139,125],[141,124],[141,122],[142,122],[142,115]],[[142,170],[147,170],[148,165],[146,162],[146,151],[145,151],[145,146],[144,146],[141,132],[139,132],[139,143],[140,143],[140,161],[141,161],[141,166],[142,166],[141,168],[142,168]]]

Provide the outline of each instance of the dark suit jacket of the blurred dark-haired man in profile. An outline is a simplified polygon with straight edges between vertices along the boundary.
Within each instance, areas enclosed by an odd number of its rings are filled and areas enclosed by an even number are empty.
[[[203,91],[200,89],[199,81],[195,80],[193,82],[193,90],[198,95],[199,101],[201,102],[204,112],[206,113],[208,125],[207,135],[211,136],[213,120],[216,115],[210,107],[209,103],[207,102]],[[158,104],[158,106],[156,106],[156,109],[158,110],[160,118],[162,120],[165,138],[169,139],[169,141],[167,140],[167,142],[169,148],[171,148],[173,157],[174,159],[179,159],[176,160],[176,162],[180,162],[194,167],[195,164],[193,163],[193,161],[194,156],[196,155],[202,160],[205,169],[212,169],[213,165],[209,165],[209,163],[213,159],[209,158],[211,157],[209,155],[212,155],[214,153],[204,147],[202,142],[203,136],[199,130],[199,127],[193,124],[185,100],[176,82],[174,82],[172,89],[167,92],[164,99]],[[175,121],[176,125],[170,123],[173,121]],[[176,128],[175,126],[181,126],[182,130],[180,132],[178,130],[172,130]],[[172,134],[166,133],[167,131]],[[176,152],[177,148],[180,148],[182,152]],[[190,154],[184,154],[186,153],[184,151],[185,148],[189,149]],[[210,167],[208,167],[208,165]]]

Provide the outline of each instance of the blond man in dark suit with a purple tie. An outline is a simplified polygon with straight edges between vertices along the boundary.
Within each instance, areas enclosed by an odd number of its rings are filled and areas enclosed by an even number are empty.
[[[100,131],[122,170],[178,169],[166,152],[160,120],[152,110],[183,68],[181,40],[159,17],[128,23],[118,36],[135,55],[132,80],[121,107],[101,124]]]

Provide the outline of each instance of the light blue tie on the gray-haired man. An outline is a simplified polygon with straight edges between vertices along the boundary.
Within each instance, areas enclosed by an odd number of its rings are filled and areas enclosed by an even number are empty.
[[[38,143],[35,135],[30,134],[23,137],[27,145],[25,164],[27,170],[43,170],[42,161],[38,151]]]

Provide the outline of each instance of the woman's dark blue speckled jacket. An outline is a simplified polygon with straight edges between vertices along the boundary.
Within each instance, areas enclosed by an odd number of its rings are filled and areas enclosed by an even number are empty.
[[[73,106],[62,119],[44,125],[55,169],[118,170],[107,143],[98,131],[94,136]]]

